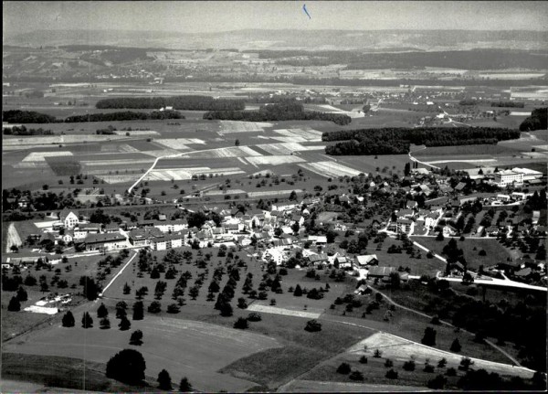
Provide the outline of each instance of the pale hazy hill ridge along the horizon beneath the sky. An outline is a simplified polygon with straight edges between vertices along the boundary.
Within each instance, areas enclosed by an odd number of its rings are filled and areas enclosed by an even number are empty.
[[[455,50],[546,49],[548,32],[484,30],[234,30],[179,33],[132,30],[37,30],[4,38],[4,45],[102,45],[134,48]]]

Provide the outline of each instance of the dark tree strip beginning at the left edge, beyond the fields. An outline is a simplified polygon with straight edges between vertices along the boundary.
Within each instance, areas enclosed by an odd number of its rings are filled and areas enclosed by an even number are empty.
[[[184,119],[184,115],[176,111],[153,112],[111,112],[89,113],[86,115],[68,116],[58,119],[45,113],[32,111],[3,111],[3,122],[8,123],[79,123],[79,122],[116,122],[116,121],[158,121],[163,119]],[[21,134],[23,135],[23,134]]]

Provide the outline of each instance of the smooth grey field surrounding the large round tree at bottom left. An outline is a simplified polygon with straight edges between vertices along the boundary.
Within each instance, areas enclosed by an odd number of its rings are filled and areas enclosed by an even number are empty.
[[[92,315],[96,320],[95,314]],[[142,353],[146,361],[145,373],[149,376],[157,376],[165,368],[175,385],[186,376],[200,391],[225,389],[234,392],[245,391],[256,384],[216,371],[238,358],[279,346],[275,339],[265,335],[170,317],[147,314],[142,321],[132,321],[130,331],[101,330],[98,322],[92,328],[84,329],[79,326],[79,314],[75,317],[77,326],[73,328],[58,324],[47,326],[5,344],[3,351],[106,363],[121,349],[133,348]],[[110,319],[112,325],[118,323],[113,315]],[[142,346],[129,345],[131,332],[135,329],[142,330]]]

